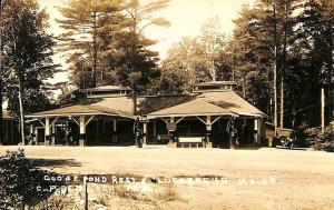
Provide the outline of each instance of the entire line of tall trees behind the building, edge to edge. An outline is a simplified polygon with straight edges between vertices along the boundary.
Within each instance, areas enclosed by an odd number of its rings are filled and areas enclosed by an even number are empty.
[[[194,82],[234,80],[237,93],[276,127],[318,126],[322,89],[326,121],[333,118],[331,0],[257,0],[239,11],[232,34],[222,32],[218,18],[209,19],[163,61],[145,31],[169,26],[158,13],[169,0],[70,0],[58,8],[65,30],[58,37],[46,32],[48,17],[36,0],[0,2],[0,103],[8,101],[21,130],[23,113],[55,107],[48,96],[60,86],[46,81],[60,69],[51,59],[55,49],[67,54],[70,84],[127,86],[134,104],[138,94],[181,94]]]

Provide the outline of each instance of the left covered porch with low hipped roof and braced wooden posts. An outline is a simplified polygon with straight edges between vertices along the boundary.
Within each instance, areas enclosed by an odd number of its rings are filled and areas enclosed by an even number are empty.
[[[66,107],[27,118],[35,144],[84,147],[134,143],[134,119],[98,106]]]

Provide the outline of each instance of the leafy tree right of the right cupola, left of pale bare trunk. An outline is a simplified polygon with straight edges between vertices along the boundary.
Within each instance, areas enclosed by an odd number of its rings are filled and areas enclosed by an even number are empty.
[[[234,20],[236,27],[229,51],[234,60],[236,90],[261,110],[273,113],[274,48],[273,39],[267,39],[271,38],[267,29],[273,27],[263,21],[265,14],[258,8],[245,6],[242,9]]]

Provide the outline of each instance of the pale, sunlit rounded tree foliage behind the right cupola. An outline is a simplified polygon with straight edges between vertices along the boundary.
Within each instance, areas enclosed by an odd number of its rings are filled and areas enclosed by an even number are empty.
[[[160,92],[188,92],[191,83],[230,78],[225,47],[219,19],[208,19],[198,37],[184,37],[169,49],[161,63]]]

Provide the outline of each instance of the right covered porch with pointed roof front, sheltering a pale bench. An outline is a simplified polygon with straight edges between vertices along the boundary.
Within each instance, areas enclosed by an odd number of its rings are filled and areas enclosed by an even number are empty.
[[[232,140],[232,129],[236,132],[238,147],[261,144],[264,136],[261,116],[238,114],[219,106],[193,100],[148,114],[144,124],[147,143],[167,143],[169,147],[183,147],[184,140],[188,147],[191,139],[203,139],[205,148],[235,148]]]

